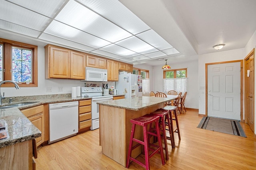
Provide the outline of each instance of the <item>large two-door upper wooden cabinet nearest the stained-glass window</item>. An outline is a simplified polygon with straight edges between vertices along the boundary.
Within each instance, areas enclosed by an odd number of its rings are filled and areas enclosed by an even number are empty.
[[[54,45],[46,45],[44,48],[46,78],[85,79],[85,53]]]

